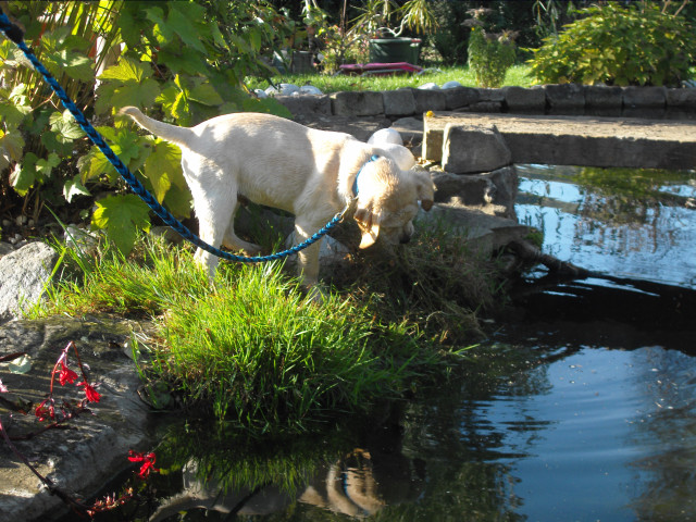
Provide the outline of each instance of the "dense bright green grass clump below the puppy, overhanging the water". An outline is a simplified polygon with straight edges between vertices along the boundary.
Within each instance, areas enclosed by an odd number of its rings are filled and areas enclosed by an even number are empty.
[[[335,295],[318,306],[275,264],[239,275],[219,275],[215,293],[161,324],[166,358],[156,373],[215,417],[298,432],[407,387],[419,346],[405,325],[382,324]]]

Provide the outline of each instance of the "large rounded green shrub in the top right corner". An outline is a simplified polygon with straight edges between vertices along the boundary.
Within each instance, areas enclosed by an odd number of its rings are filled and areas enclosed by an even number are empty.
[[[658,5],[616,3],[582,10],[580,20],[534,50],[538,83],[679,85],[696,60],[696,34],[688,22]]]

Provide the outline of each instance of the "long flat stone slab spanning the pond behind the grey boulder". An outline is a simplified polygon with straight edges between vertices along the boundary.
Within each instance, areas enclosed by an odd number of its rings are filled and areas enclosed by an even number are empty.
[[[423,121],[423,157],[443,158],[447,124],[495,125],[513,163],[696,167],[696,121],[620,120],[596,116],[434,113]]]

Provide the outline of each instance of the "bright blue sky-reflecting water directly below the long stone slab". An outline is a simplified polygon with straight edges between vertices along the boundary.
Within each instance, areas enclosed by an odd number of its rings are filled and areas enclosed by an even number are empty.
[[[520,222],[604,274],[696,288],[696,173],[519,165]]]

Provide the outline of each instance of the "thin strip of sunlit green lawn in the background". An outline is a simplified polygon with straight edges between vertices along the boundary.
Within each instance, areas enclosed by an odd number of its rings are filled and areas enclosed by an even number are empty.
[[[506,74],[504,85],[530,87],[532,78],[529,76],[529,72],[530,67],[527,65],[512,66]],[[285,74],[273,78],[276,84],[313,85],[324,94],[345,90],[393,90],[400,87],[420,87],[431,82],[442,86],[449,80],[457,80],[465,87],[477,87],[474,74],[469,71],[469,67],[426,69],[423,74],[419,75],[330,76],[323,74]],[[265,89],[269,83],[258,78],[247,78],[247,86],[251,89]]]

